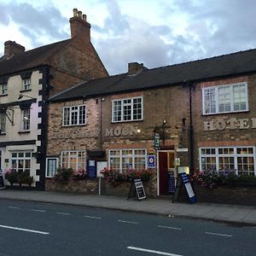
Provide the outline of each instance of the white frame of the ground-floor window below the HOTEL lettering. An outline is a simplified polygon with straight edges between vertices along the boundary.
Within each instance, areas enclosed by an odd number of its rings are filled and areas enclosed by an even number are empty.
[[[233,149],[233,154],[219,154],[218,153],[218,149],[229,149],[229,148],[232,148]],[[253,148],[253,154],[247,154],[247,153],[244,153],[244,154],[238,154],[237,153],[237,148],[243,148],[244,150],[245,149],[248,149],[248,148]],[[201,153],[201,149],[215,149],[215,154],[202,154]],[[200,171],[205,171],[202,169],[202,157],[215,157],[215,163],[216,163],[216,172],[219,171],[219,158],[220,157],[226,157],[226,158],[229,158],[229,157],[234,157],[234,166],[235,166],[235,171],[236,171],[236,175],[237,174],[241,174],[241,170],[238,170],[238,158],[239,157],[253,157],[253,166],[254,166],[254,176],[256,176],[256,148],[253,147],[253,146],[236,146],[236,147],[218,147],[218,148],[199,148],[199,161],[200,161]],[[251,172],[252,173],[252,172]]]

